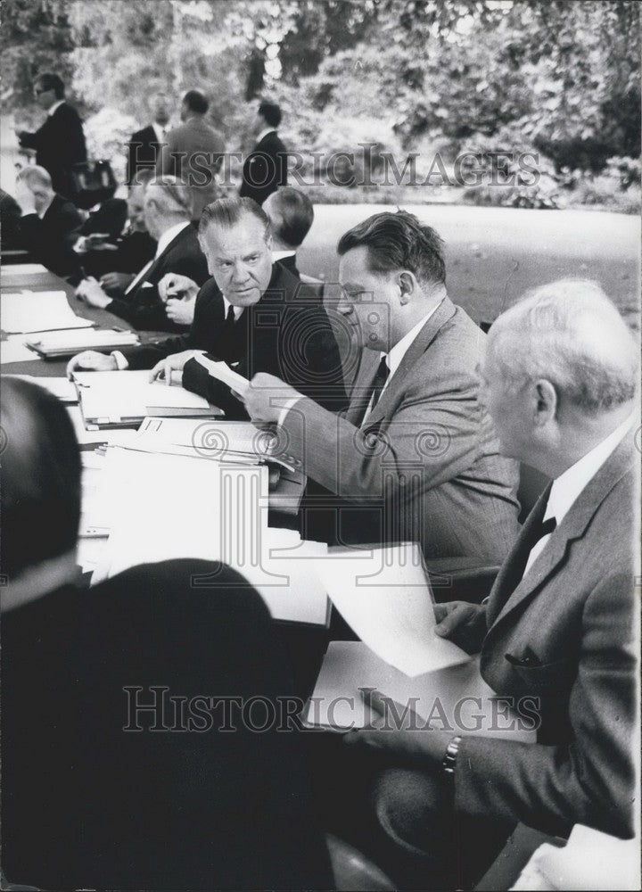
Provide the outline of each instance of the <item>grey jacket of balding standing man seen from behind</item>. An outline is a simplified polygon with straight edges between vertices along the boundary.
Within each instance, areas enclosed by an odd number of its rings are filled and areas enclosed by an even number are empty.
[[[195,220],[201,219],[202,209],[218,196],[216,175],[224,154],[222,134],[201,118],[187,120],[167,135],[156,170],[181,178],[192,187]]]

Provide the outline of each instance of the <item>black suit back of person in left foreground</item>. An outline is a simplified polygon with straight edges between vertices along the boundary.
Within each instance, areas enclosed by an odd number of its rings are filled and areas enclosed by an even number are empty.
[[[300,735],[278,730],[292,694],[279,636],[235,571],[167,561],[50,592],[3,614],[0,660],[10,881],[331,887]],[[261,733],[220,702],[256,696],[276,715]]]

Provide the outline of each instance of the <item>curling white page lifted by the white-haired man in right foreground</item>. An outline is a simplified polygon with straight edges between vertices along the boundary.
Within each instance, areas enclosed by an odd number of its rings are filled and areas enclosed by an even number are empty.
[[[415,543],[337,550],[317,561],[317,573],[346,623],[400,672],[415,676],[468,659],[434,632],[432,592]]]

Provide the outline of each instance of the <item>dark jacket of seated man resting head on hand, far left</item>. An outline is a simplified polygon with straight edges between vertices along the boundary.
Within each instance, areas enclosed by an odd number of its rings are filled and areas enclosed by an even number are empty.
[[[37,214],[21,219],[21,238],[35,260],[57,276],[67,277],[77,274],[82,263],[71,250],[82,225],[78,208],[62,195],[54,195],[42,219]]]

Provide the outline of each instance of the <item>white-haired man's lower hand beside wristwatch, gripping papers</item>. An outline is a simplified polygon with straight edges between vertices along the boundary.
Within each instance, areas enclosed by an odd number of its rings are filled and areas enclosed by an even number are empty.
[[[371,718],[361,731],[343,738],[349,747],[367,747],[391,754],[395,761],[427,770],[439,769],[456,731],[432,731],[410,706],[402,706],[378,690],[361,691]]]

